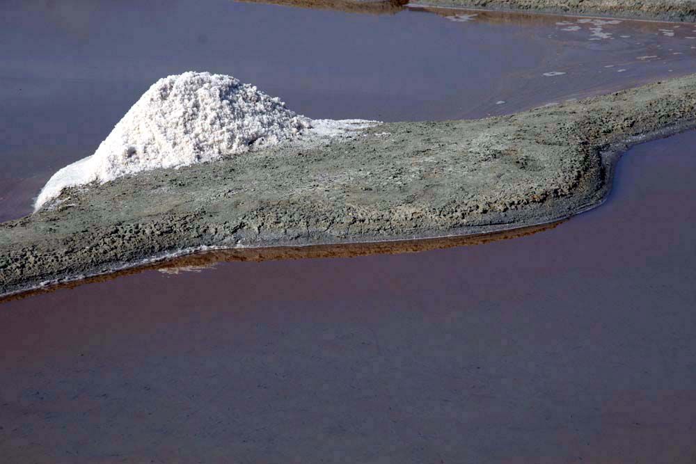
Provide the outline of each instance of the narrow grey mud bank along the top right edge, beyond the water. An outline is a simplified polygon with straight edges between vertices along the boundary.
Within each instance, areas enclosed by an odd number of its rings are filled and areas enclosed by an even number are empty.
[[[696,0],[424,0],[423,5],[695,22]]]

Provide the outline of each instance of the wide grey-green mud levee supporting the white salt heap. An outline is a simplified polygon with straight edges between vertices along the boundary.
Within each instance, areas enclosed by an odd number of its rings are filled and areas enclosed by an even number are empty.
[[[694,126],[696,74],[483,120],[398,122],[64,191],[0,224],[0,294],[182,249],[480,234],[598,205],[615,154]]]

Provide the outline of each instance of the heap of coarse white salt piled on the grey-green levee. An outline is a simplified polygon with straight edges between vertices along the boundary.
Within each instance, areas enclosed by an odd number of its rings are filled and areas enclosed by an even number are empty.
[[[178,168],[277,145],[300,136],[332,137],[377,124],[310,120],[277,97],[231,76],[184,72],[159,79],[90,157],[59,170],[35,210],[66,187],[109,182],[156,168]]]

